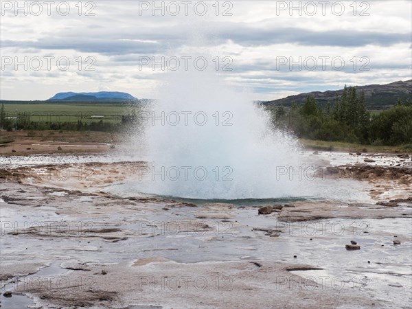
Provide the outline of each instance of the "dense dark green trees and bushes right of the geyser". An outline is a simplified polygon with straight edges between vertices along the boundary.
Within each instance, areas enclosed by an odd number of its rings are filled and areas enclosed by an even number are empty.
[[[412,144],[412,100],[398,99],[395,106],[371,115],[365,93],[346,87],[333,103],[321,107],[313,96],[290,108],[269,108],[273,125],[297,137],[323,141],[345,141],[375,146]]]

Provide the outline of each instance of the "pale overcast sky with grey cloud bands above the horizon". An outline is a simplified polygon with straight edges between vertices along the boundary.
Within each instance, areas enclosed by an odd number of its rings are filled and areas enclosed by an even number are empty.
[[[412,78],[412,1],[205,2],[1,1],[1,99],[156,98],[185,59],[254,100]]]

